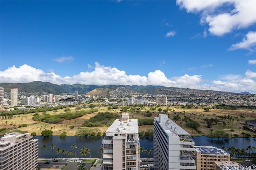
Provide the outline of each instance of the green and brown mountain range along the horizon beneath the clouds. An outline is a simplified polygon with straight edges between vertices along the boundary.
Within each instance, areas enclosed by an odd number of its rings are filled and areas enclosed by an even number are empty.
[[[176,87],[164,87],[164,86],[116,86],[116,85],[84,85],[84,84],[61,84],[56,85],[50,82],[34,81],[29,83],[0,83],[0,87],[4,88],[4,92],[10,92],[11,88],[18,88],[18,92],[25,93],[50,93],[50,94],[63,94],[72,93],[78,90],[79,94],[86,95],[100,95],[102,97],[110,97],[114,92],[120,92],[126,94],[126,96],[134,94],[150,94],[150,95],[242,95],[250,94],[248,92],[234,93],[234,92],[221,92],[213,90],[196,90],[189,88],[176,88]]]

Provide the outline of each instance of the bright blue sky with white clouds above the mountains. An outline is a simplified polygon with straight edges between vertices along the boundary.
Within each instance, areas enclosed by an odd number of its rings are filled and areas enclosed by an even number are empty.
[[[256,94],[256,1],[2,1],[0,82]]]

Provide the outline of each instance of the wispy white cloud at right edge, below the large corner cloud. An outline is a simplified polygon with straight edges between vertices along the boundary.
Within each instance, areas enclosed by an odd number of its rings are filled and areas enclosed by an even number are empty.
[[[249,49],[250,51],[253,51],[251,47],[254,45],[256,45],[256,32],[250,31],[246,34],[246,37],[242,40],[242,42],[232,44],[228,50]]]

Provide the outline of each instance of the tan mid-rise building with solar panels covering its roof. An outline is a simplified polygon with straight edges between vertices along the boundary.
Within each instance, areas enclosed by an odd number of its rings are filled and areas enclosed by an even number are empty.
[[[229,161],[230,154],[212,146],[194,146],[196,151],[196,169],[214,170],[214,162]]]

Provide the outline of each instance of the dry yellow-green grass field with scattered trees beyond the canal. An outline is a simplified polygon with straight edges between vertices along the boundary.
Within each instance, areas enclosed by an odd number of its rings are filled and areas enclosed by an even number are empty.
[[[96,104],[95,104],[96,105]],[[138,108],[138,107],[137,107]],[[158,110],[158,108],[162,108],[162,109],[166,109],[167,107],[157,107],[156,110]],[[76,107],[70,107],[71,111],[75,111]],[[84,109],[84,108],[82,108]],[[0,119],[0,127],[1,128],[8,128],[8,129],[13,129],[14,127],[18,127],[19,125],[22,124],[28,124],[27,127],[20,127],[17,128],[18,130],[21,131],[28,131],[28,133],[32,133],[35,132],[36,135],[40,136],[41,135],[41,131],[44,129],[47,130],[52,130],[54,133],[53,135],[60,135],[62,132],[66,131],[67,132],[67,136],[74,136],[76,134],[76,131],[78,131],[78,128],[76,127],[77,125],[82,125],[82,123],[85,120],[90,119],[90,117],[95,116],[96,114],[98,114],[99,112],[111,112],[113,114],[119,114],[121,115],[121,109],[113,109],[113,110],[107,110],[107,107],[97,107],[98,112],[95,113],[90,113],[87,115],[84,115],[82,117],[78,117],[76,119],[71,119],[71,120],[66,120],[63,121],[61,124],[49,124],[49,123],[44,123],[44,122],[40,122],[38,123],[37,121],[33,121],[32,120],[32,116],[34,113],[29,113],[29,114],[25,114],[25,115],[16,115],[14,116],[13,119]],[[144,118],[149,118],[149,119],[154,119],[154,117],[158,117],[159,114],[164,114],[162,112],[158,112],[158,111],[150,111],[150,113],[152,113],[152,116],[150,117],[144,117],[144,115],[146,114],[146,111],[148,111],[150,109],[150,107],[143,107],[141,111],[139,111],[138,113],[136,111],[127,111],[127,113],[129,113],[130,119],[144,119]],[[221,130],[221,131],[225,131],[226,133],[229,133],[231,136],[231,132],[230,130],[233,129],[234,132],[232,132],[232,134],[237,134],[239,135],[239,137],[242,137],[241,133],[242,132],[246,132],[246,133],[250,133],[252,136],[255,135],[256,133],[253,132],[249,132],[249,131],[244,131],[242,129],[243,125],[242,123],[244,121],[247,120],[251,120],[251,119],[255,119],[256,117],[256,113],[255,110],[252,109],[236,109],[236,110],[220,110],[220,109],[211,109],[210,111],[204,111],[204,109],[200,108],[200,109],[182,109],[180,107],[168,107],[168,113],[166,113],[170,119],[173,119],[174,117],[174,112],[176,112],[176,114],[179,114],[180,117],[184,117],[184,115],[190,117],[190,119],[193,119],[194,121],[200,123],[200,127],[198,128],[199,131],[202,132],[202,134],[199,134],[197,131],[195,131],[194,129],[189,128],[188,126],[186,126],[186,123],[182,120],[178,120],[175,121],[178,125],[180,125],[180,127],[182,127],[183,129],[185,129],[188,133],[190,133],[191,135],[207,135],[210,136],[211,131],[210,129],[214,131],[217,130]],[[58,113],[62,113],[64,112],[64,109],[59,109],[57,113],[54,113],[53,111],[47,111],[47,113],[49,114],[58,114]],[[39,113],[40,115],[43,113]],[[232,116],[232,119],[229,120],[225,120],[226,125],[212,125],[211,128],[207,127],[206,122],[203,119],[210,119],[210,118],[216,118],[217,116]],[[240,117],[240,115],[243,115],[243,117]],[[75,128],[74,129],[70,129],[69,127],[74,125]],[[88,127],[80,127],[80,128],[88,128]],[[93,128],[93,127],[92,127]],[[108,127],[98,127],[100,129],[101,133],[104,133]],[[139,127],[140,131],[147,131],[148,129],[153,129],[152,125],[143,125]]]

